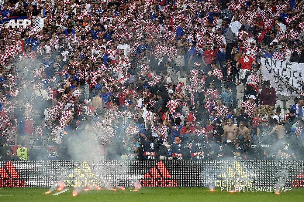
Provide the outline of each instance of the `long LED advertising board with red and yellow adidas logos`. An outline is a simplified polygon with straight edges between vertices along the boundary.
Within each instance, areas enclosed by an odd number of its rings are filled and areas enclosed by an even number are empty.
[[[0,161],[0,187],[304,187],[304,161]]]

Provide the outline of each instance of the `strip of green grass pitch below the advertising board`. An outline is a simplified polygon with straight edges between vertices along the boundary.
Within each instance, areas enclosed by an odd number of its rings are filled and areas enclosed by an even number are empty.
[[[44,194],[49,190],[48,187],[44,188],[0,188],[0,201],[41,201],[41,202],[76,202],[76,201],[140,201],[140,202],[176,202],[176,201],[224,201],[224,202],[278,202],[278,201],[303,201],[304,189],[292,188],[290,192],[281,192],[279,195],[274,192],[221,192],[220,188],[215,188],[210,191],[206,187],[159,187],[159,188],[141,188],[133,192],[134,188],[126,188],[126,190],[88,190],[84,188],[76,195],[72,196],[73,187],[64,193],[53,195],[59,191],[54,190],[51,194]]]

